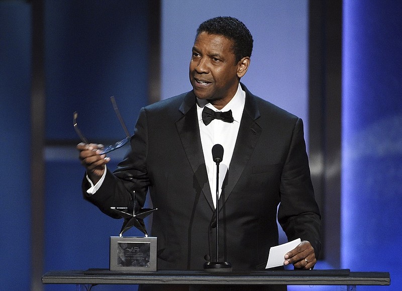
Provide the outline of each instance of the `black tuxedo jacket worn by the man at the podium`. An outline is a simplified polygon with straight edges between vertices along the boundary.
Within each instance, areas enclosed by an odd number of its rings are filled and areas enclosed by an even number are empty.
[[[320,214],[302,120],[242,87],[246,103],[220,198],[220,261],[234,270],[265,266],[278,244],[276,216],[289,240],[310,241],[318,256]],[[192,91],[143,108],[127,157],[94,195],[84,193],[115,217],[110,207],[127,206],[134,190],[141,205],[149,190],[158,208],[151,232],[158,269],[196,270],[216,261],[215,209]]]

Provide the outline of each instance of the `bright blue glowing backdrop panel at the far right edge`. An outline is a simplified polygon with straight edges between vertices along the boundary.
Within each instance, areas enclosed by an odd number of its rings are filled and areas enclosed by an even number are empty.
[[[344,0],[342,111],[342,266],[402,267],[402,6]]]

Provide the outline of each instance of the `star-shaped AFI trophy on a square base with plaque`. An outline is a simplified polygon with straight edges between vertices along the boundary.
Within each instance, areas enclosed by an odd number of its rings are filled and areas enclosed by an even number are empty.
[[[124,218],[119,236],[110,238],[110,270],[121,272],[156,271],[157,238],[149,237],[144,218],[157,208],[140,208],[135,202],[135,192],[129,207],[111,207]],[[145,237],[124,237],[123,233],[136,227]]]

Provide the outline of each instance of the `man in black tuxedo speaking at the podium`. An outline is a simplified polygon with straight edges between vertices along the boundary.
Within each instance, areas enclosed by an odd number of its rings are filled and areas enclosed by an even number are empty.
[[[264,268],[270,247],[278,244],[276,218],[288,240],[302,240],[284,264],[311,269],[317,262],[320,213],[303,122],[240,83],[252,47],[249,30],[235,18],[202,23],[189,66],[193,89],[141,109],[131,149],[113,173],[106,167],[110,158],[99,154],[102,145],[77,145],[86,168],[84,197],[107,215],[119,218],[110,208],[127,207],[134,191],[144,205],[149,190],[158,208],[151,230],[158,238],[158,269],[199,270],[208,261],[229,261],[233,270]],[[215,144],[224,148],[218,203]],[[255,287],[272,289],[286,287]]]

